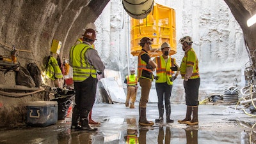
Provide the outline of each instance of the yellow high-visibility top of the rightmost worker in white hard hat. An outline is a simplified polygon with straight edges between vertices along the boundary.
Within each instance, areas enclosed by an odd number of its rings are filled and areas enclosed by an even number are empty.
[[[180,74],[184,78],[186,74],[186,68],[192,66],[193,74],[189,79],[199,78],[199,68],[198,68],[198,59],[193,48],[190,48],[188,52],[184,55],[182,62],[180,64]]]

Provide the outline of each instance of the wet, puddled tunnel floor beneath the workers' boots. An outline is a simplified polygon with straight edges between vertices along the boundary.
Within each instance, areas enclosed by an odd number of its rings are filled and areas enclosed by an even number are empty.
[[[241,107],[243,108],[243,107]],[[98,131],[70,131],[71,119],[58,120],[47,127],[26,127],[0,131],[0,143],[256,143],[255,117],[244,114],[241,108],[230,105],[200,105],[198,126],[179,124],[184,119],[185,104],[172,104],[174,123],[138,126],[138,103],[136,108],[124,104],[95,104],[93,120]],[[157,103],[147,105],[147,119],[158,118]]]

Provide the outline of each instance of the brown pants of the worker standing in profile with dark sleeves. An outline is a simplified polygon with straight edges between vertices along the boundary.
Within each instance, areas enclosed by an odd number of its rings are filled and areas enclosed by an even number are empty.
[[[141,97],[140,97],[140,107],[146,108],[148,103],[148,96],[151,89],[152,80],[147,78],[140,78],[141,86]]]

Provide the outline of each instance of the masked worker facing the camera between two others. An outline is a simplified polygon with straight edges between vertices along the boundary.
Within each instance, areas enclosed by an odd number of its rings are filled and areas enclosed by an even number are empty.
[[[156,57],[155,61],[157,64],[156,68],[156,93],[158,97],[158,112],[159,119],[156,119],[156,122],[163,122],[164,115],[164,104],[165,103],[165,114],[166,114],[166,122],[172,123],[173,120],[170,119],[171,115],[171,103],[170,97],[172,94],[172,84],[173,80],[177,78],[179,75],[179,71],[176,71],[176,75],[172,76],[174,71],[171,68],[177,67],[175,63],[175,59],[169,56],[170,53],[170,45],[167,42],[164,42],[161,45],[161,52],[163,55]]]

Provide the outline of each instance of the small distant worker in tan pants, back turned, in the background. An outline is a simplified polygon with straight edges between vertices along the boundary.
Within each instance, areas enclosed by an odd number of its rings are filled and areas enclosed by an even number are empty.
[[[135,75],[135,69],[130,69],[131,75],[127,75],[124,83],[127,83],[127,97],[125,101],[125,106],[128,107],[131,99],[129,108],[135,108],[134,103],[137,96],[138,89],[138,77]]]

